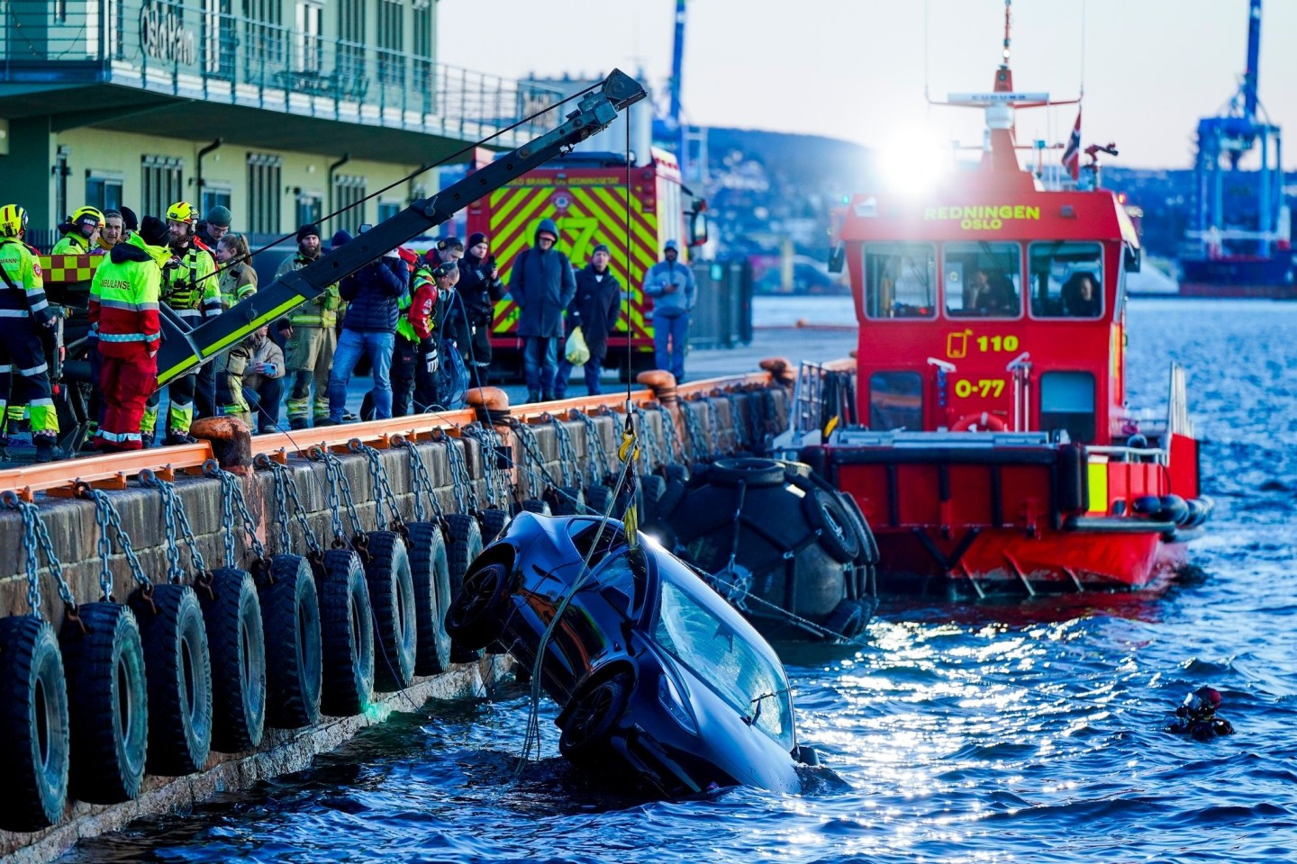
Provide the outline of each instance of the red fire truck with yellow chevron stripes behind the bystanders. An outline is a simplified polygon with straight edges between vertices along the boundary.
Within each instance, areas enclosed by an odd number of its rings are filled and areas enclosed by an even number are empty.
[[[473,167],[470,177],[482,165]],[[687,207],[686,207],[687,203]],[[608,246],[612,273],[626,290],[625,313],[608,338],[606,367],[632,373],[652,367],[652,301],[643,294],[645,275],[661,260],[668,240],[681,245],[680,260],[707,242],[707,209],[681,181],[680,163],[652,148],[643,165],[628,165],[616,153],[569,153],[528,171],[467,207],[468,233],[490,238],[490,250],[507,285],[518,255],[528,249],[542,219],[559,229],[558,249],[577,269],[598,244]],[[519,308],[506,297],[492,321],[493,365],[521,365]]]

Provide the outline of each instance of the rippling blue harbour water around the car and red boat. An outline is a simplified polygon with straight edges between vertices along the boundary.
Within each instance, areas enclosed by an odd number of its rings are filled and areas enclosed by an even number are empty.
[[[789,654],[800,736],[831,769],[804,794],[616,797],[558,758],[551,706],[515,779],[528,701],[506,690],[65,860],[1294,860],[1297,304],[1137,301],[1130,324],[1134,404],[1161,404],[1170,360],[1188,369],[1219,505],[1201,574],[1161,596],[885,608],[868,650]],[[1237,734],[1163,731],[1201,684]]]

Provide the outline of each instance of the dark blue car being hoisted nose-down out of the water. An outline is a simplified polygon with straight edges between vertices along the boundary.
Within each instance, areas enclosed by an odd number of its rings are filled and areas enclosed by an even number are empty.
[[[651,538],[632,549],[616,521],[519,513],[464,575],[446,631],[532,668],[547,630],[540,683],[567,759],[669,797],[800,790],[815,751],[774,649]]]

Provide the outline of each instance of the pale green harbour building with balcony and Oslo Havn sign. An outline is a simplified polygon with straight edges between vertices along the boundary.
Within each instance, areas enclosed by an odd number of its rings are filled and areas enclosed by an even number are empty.
[[[0,198],[40,246],[82,205],[223,205],[265,241],[379,193],[323,225],[354,232],[560,98],[436,41],[433,0],[0,0]]]

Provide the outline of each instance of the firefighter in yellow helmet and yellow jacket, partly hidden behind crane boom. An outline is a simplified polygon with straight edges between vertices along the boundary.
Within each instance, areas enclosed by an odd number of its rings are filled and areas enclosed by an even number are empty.
[[[188,202],[178,201],[171,205],[166,211],[166,219],[171,258],[162,269],[162,302],[192,329],[202,324],[204,319],[220,315],[217,266],[211,255],[193,242],[193,207]],[[208,390],[200,394],[201,387]],[[200,417],[211,417],[217,413],[217,385],[211,364],[204,364],[174,380],[167,385],[167,395],[171,407],[167,411],[166,443],[192,444],[195,438],[189,434],[189,426],[193,422],[196,396],[200,400]],[[154,392],[144,409],[140,431],[145,447],[152,447],[157,435],[160,399],[161,391]]]

